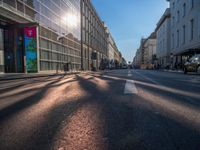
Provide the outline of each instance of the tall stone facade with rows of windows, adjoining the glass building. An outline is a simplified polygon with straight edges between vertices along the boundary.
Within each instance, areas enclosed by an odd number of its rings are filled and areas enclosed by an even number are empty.
[[[98,69],[108,57],[106,27],[90,0],[81,0],[81,14],[82,69]]]

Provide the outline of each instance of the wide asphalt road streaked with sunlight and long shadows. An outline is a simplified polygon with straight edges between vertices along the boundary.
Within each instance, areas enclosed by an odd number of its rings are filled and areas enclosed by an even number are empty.
[[[200,150],[200,76],[114,70],[0,81],[0,150]]]

